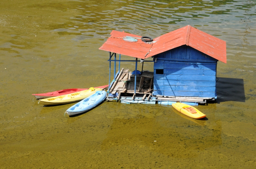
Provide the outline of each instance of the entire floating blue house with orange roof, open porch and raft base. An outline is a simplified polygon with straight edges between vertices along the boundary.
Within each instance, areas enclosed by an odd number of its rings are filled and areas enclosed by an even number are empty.
[[[100,47],[109,52],[109,100],[205,103],[217,99],[217,62],[227,63],[225,41],[190,25],[149,40],[118,31],[112,31],[110,35]],[[135,60],[121,60],[121,54]],[[115,59],[112,59],[113,55]],[[135,70],[120,70],[122,61],[135,61]],[[119,63],[117,73],[116,62]],[[137,70],[138,62],[142,63],[141,71]],[[154,62],[154,72],[143,71],[144,62]],[[133,94],[132,97],[124,96],[127,93]]]

